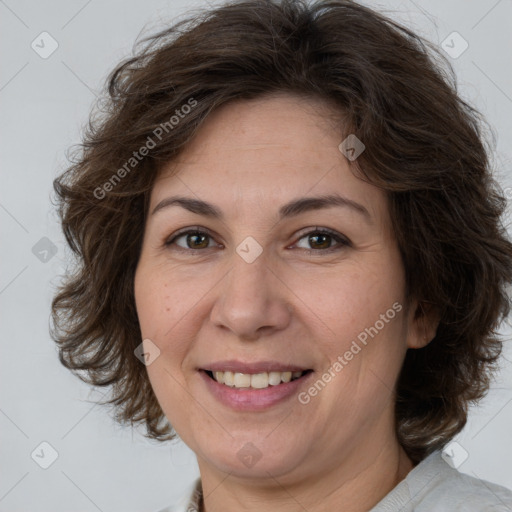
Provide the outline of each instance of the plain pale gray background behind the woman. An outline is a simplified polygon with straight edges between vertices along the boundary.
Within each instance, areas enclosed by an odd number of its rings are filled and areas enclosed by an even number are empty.
[[[497,133],[496,173],[503,187],[512,186],[512,1],[365,3],[436,44],[454,31],[467,41],[467,50],[450,59],[461,94]],[[151,512],[172,503],[198,476],[188,448],[115,425],[107,408],[94,405],[105,390],[91,390],[60,365],[48,334],[49,308],[69,251],[50,197],[108,72],[131,53],[141,31],[149,35],[206,5],[0,0],[0,511]],[[48,58],[31,47],[48,37],[40,36],[45,31],[58,43]],[[47,51],[51,41],[45,41]],[[461,44],[456,39],[452,46],[460,50]],[[512,188],[507,195],[512,198]],[[508,325],[501,331],[509,337]],[[509,488],[511,356],[507,343],[499,380],[456,439],[468,455],[460,471]],[[40,464],[52,452],[42,442],[58,453],[48,469]]]

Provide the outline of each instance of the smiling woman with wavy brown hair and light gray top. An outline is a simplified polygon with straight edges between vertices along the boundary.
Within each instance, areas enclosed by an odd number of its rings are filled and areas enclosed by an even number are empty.
[[[109,77],[55,182],[78,265],[53,335],[120,421],[195,452],[166,511],[512,509],[441,456],[496,367],[512,245],[433,52],[351,1],[249,0]]]

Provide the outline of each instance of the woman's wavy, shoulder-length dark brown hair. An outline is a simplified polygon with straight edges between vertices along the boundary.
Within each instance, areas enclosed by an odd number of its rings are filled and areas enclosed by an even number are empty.
[[[363,141],[357,168],[389,198],[408,295],[439,312],[435,338],[408,350],[396,389],[397,436],[419,462],[463,428],[468,404],[489,387],[510,308],[512,244],[481,116],[458,96],[451,66],[409,29],[349,0],[231,2],[141,41],[111,73],[80,152],[54,182],[76,256],[52,304],[60,360],[112,387],[106,403],[119,421],[174,437],[134,356],[149,194],[210,112],[274,92],[344,115],[340,142],[350,133]]]

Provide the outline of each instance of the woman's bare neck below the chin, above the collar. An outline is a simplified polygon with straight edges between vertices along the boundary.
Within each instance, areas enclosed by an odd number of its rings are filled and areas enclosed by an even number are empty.
[[[366,459],[367,462],[364,462]],[[398,443],[368,454],[354,450],[342,464],[296,482],[281,477],[265,482],[226,476],[199,463],[203,485],[203,512],[323,512],[350,510],[367,512],[398,485],[414,464]],[[354,471],[354,469],[356,471]],[[332,468],[331,468],[332,469]]]

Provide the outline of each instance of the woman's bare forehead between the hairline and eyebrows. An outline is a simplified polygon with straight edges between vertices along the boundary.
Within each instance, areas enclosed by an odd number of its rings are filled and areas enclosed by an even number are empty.
[[[341,118],[326,103],[288,95],[228,103],[163,166],[151,206],[179,193],[232,208],[278,209],[300,196],[339,193],[385,220],[382,191],[358,178],[338,146]]]

